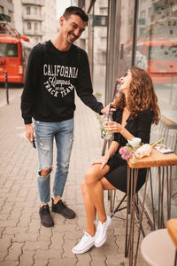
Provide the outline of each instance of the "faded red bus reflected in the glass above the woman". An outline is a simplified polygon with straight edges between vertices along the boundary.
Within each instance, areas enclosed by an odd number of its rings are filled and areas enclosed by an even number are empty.
[[[135,66],[146,69],[153,82],[177,81],[177,42],[163,39],[138,41]]]

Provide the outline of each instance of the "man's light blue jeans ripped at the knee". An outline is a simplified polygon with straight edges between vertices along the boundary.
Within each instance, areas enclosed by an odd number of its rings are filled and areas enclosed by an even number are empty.
[[[41,176],[43,168],[52,168],[53,143],[57,146],[57,166],[53,196],[62,197],[73,146],[73,118],[60,122],[35,121],[35,138],[39,158],[38,190],[42,203],[50,201],[50,173]]]

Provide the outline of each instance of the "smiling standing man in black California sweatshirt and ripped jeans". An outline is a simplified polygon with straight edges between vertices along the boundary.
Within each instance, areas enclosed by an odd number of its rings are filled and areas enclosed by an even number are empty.
[[[59,20],[57,37],[45,44],[35,45],[28,59],[21,111],[30,142],[34,140],[34,118],[39,157],[39,214],[42,225],[46,227],[54,225],[48,205],[54,138],[57,145],[57,168],[51,210],[68,219],[75,216],[73,210],[62,201],[73,145],[74,90],[84,104],[97,113],[106,111],[106,107],[92,95],[87,53],[73,44],[81,36],[88,20],[88,15],[81,8],[66,8]]]

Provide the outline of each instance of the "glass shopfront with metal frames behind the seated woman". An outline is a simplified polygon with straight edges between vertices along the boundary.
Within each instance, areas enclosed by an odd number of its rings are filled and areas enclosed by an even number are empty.
[[[165,144],[177,153],[177,0],[86,0],[78,4],[88,12],[90,19],[85,43],[94,92],[99,92],[107,104],[112,101],[116,79],[130,66],[147,70],[161,110],[161,121],[152,127],[150,142],[164,137]],[[105,24],[100,22],[105,20]],[[158,207],[155,169],[152,174]],[[177,213],[176,183],[175,167],[173,216]]]

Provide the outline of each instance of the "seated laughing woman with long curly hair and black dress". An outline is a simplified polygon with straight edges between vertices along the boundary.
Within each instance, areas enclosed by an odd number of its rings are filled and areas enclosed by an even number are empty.
[[[140,137],[142,143],[149,143],[151,123],[158,124],[159,121],[158,98],[146,71],[131,67],[120,78],[119,91],[119,98],[113,103],[116,107],[113,121],[106,128],[109,133],[114,133],[112,144],[108,152],[89,167],[81,184],[87,229],[79,244],[73,247],[74,254],[104,245],[106,231],[112,223],[111,217],[105,214],[104,190],[127,192],[127,160],[121,159],[119,148],[127,144],[129,137]],[[145,176],[146,168],[140,169],[136,191],[144,184]],[[98,222],[95,222],[96,212]]]

